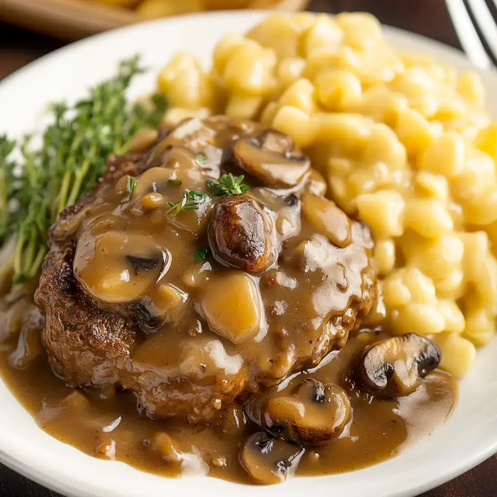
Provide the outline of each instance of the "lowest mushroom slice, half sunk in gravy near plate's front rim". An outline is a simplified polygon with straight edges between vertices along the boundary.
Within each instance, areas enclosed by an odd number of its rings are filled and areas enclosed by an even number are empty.
[[[255,482],[274,485],[295,474],[304,452],[299,445],[259,431],[247,439],[240,459]]]

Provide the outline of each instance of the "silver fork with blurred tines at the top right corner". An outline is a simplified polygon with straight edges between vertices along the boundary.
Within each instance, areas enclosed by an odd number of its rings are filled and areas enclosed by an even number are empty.
[[[497,0],[493,1],[497,7]],[[497,23],[486,1],[467,0],[467,5],[463,0],[445,0],[445,3],[468,59],[482,69],[492,68],[497,61]],[[487,44],[488,53],[480,36]]]

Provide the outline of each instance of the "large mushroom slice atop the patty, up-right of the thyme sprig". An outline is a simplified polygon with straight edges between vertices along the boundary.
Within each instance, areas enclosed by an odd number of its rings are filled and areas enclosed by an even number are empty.
[[[256,138],[243,138],[233,148],[236,164],[267,186],[290,188],[299,184],[311,167],[309,158],[291,139],[274,130]]]

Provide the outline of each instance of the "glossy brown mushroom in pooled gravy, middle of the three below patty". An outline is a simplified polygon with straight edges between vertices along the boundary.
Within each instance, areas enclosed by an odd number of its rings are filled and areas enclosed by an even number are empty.
[[[340,435],[350,413],[350,400],[342,388],[307,378],[291,395],[269,400],[264,422],[269,430],[294,442],[321,444]]]

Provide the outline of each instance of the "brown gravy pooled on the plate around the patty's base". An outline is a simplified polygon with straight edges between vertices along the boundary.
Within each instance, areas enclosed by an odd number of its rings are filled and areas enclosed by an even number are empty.
[[[325,365],[291,379],[283,392],[304,377],[340,384],[343,374],[355,367],[355,354],[382,336],[367,332],[349,339],[343,349],[327,356]],[[254,483],[240,465],[239,452],[248,434],[260,428],[239,403],[208,426],[192,426],[175,418],[150,419],[136,412],[131,393],[66,387],[52,373],[45,354],[24,369],[12,367],[8,357],[15,348],[14,340],[1,346],[2,378],[38,425],[62,442],[164,476],[198,473]],[[395,456],[445,422],[456,392],[454,378],[440,370],[430,373],[405,397],[381,399],[354,392],[350,395],[352,417],[342,434],[327,445],[307,446],[296,474],[341,473]]]

